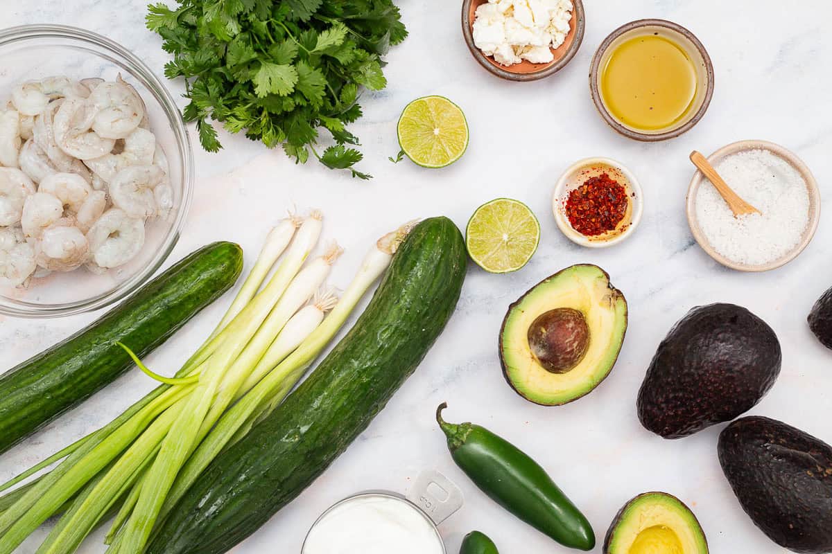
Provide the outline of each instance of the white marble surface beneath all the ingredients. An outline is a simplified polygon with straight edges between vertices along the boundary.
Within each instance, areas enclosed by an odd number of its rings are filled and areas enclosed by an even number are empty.
[[[2,25],[54,22],[87,27],[121,42],[161,73],[166,54],[143,25],[145,0],[3,2]],[[676,494],[693,508],[722,554],[775,554],[730,492],[716,460],[717,426],[665,441],[642,429],[635,396],[656,345],[691,306],[735,302],[774,327],[783,346],[780,380],[753,411],[832,440],[832,352],[815,341],[805,316],[832,284],[825,216],[805,253],[779,271],[731,272],[698,248],[684,216],[692,149],[710,152],[741,139],[766,139],[795,150],[832,190],[832,119],[827,71],[832,41],[825,0],[801,0],[793,9],[774,0],[587,0],[587,34],[581,51],[557,76],[530,84],[500,81],[471,58],[459,30],[459,2],[399,2],[411,37],[388,60],[389,87],[364,98],[356,132],[364,140],[362,169],[369,183],[319,165],[296,166],[279,151],[245,138],[223,136],[220,154],[196,151],[196,199],[173,259],[215,239],[239,242],[251,262],[270,223],[286,208],[316,207],[325,233],[347,254],[333,282],[344,286],[369,243],[411,218],[447,214],[462,226],[480,203],[499,196],[527,202],[542,223],[537,255],[522,271],[489,275],[476,267],[447,331],[414,377],[323,477],[234,552],[299,552],[306,529],[329,504],[368,488],[404,492],[425,468],[453,478],[466,496],[461,512],[442,526],[448,552],[477,528],[501,552],[566,552],[503,512],[479,493],[448,457],[433,409],[448,400],[448,419],[473,419],[512,439],[552,473],[582,507],[599,542],[627,499],[647,490]],[[679,139],[661,144],[626,140],[597,116],[587,91],[587,67],[603,37],[618,25],[663,17],[695,32],[716,67],[716,93],[706,118]],[[181,83],[171,83],[175,93]],[[471,144],[453,167],[420,169],[390,164],[398,151],[395,121],[418,96],[441,94],[468,115]],[[191,130],[192,131],[192,130]],[[196,137],[195,137],[196,139]],[[590,251],[569,243],[550,213],[552,185],[579,158],[604,155],[627,164],[641,179],[646,213],[626,243]],[[630,306],[630,326],[612,375],[587,398],[561,408],[527,403],[503,381],[497,332],[510,302],[543,277],[575,262],[594,262],[612,275]],[[173,368],[214,326],[227,298],[151,355],[158,370]],[[0,320],[0,368],[11,367],[68,336],[97,314],[57,321]],[[79,409],[0,456],[0,478],[36,462],[108,421],[151,388],[134,372]],[[42,535],[40,536],[42,537]],[[94,537],[95,539],[100,536]],[[20,552],[34,552],[37,541]],[[97,540],[82,552],[103,552]],[[596,552],[601,552],[597,547]]]

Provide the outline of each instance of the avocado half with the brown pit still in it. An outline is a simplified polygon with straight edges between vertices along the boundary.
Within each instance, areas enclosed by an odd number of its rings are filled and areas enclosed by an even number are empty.
[[[609,375],[626,325],[626,300],[607,272],[567,267],[508,307],[499,340],[503,375],[536,404],[577,400]]]

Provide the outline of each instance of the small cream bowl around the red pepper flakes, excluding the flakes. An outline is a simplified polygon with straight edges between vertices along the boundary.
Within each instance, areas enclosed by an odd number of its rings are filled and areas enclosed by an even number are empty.
[[[578,233],[569,223],[565,208],[566,201],[572,190],[580,187],[587,179],[604,173],[624,186],[630,203],[622,222],[618,223],[617,228],[597,237],[587,237]],[[557,179],[555,192],[552,194],[552,213],[555,215],[557,227],[573,243],[587,248],[607,248],[613,244],[621,243],[636,231],[638,223],[641,222],[641,213],[644,212],[643,197],[644,194],[641,191],[641,185],[638,184],[636,175],[632,174],[630,169],[626,169],[623,164],[609,158],[581,159],[570,165],[563,172],[561,178]]]

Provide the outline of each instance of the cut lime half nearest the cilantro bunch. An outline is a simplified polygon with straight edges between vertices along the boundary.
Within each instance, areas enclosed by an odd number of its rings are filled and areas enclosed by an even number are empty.
[[[399,117],[399,145],[415,164],[440,168],[453,164],[468,148],[463,110],[443,96],[410,102]]]

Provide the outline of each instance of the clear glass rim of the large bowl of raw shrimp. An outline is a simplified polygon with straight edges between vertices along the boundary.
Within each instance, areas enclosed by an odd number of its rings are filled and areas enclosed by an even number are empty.
[[[107,51],[110,56],[116,56],[119,61],[129,67],[132,71],[132,76],[138,81],[141,81],[142,85],[146,86],[153,93],[154,99],[159,102],[162,110],[165,111],[168,122],[171,125],[171,130],[173,130],[176,136],[176,144],[178,146],[176,155],[181,158],[182,165],[181,203],[176,213],[176,219],[167,230],[166,237],[159,246],[158,251],[144,269],[136,272],[130,278],[126,279],[126,281],[121,282],[117,287],[107,292],[76,302],[38,305],[29,302],[12,301],[4,297],[3,302],[0,303],[0,314],[7,316],[72,316],[110,306],[131,295],[133,292],[136,292],[136,290],[153,277],[153,274],[156,273],[170,256],[173,248],[176,247],[176,243],[179,241],[182,228],[185,226],[188,210],[191,207],[191,196],[194,189],[193,152],[191,150],[191,139],[188,136],[185,123],[182,120],[179,108],[176,106],[176,101],[171,96],[171,92],[167,90],[166,86],[164,86],[156,74],[143,61],[131,53],[131,51],[128,51],[117,42],[103,37],[96,32],[66,25],[22,25],[9,27],[0,31],[0,46],[11,42],[37,38],[69,39],[80,44],[91,44]],[[100,52],[96,52],[96,54],[97,56],[102,56]]]

